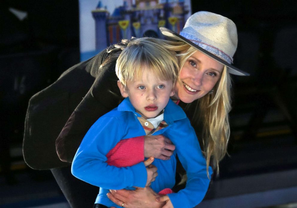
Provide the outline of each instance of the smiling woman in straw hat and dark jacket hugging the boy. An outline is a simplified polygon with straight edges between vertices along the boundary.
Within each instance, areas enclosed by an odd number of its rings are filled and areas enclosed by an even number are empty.
[[[187,109],[185,111],[188,117],[193,118],[192,125],[197,123],[196,120],[201,119],[201,123],[203,123],[201,140],[204,147],[202,149],[204,149],[206,156],[207,168],[210,164],[212,164],[213,168],[218,168],[219,161],[226,153],[230,130],[228,123],[228,112],[231,109],[229,73],[248,75],[231,65],[232,57],[237,47],[236,26],[230,19],[223,16],[210,12],[197,12],[187,20],[180,35],[166,28],[161,28],[161,31],[164,35],[179,40],[179,42],[172,43],[169,46],[169,49],[180,53],[181,67],[179,80],[175,86],[175,96],[172,99],[196,105],[195,111]],[[55,134],[57,136],[61,123],[66,122],[65,118],[71,113],[71,109],[74,109],[73,106],[80,102],[71,116],[68,116],[69,119],[60,132],[56,143],[60,159],[65,162],[71,162],[80,141],[89,127],[98,117],[116,107],[121,100],[118,96],[117,79],[114,73],[115,60],[119,53],[120,50],[115,50],[110,54],[102,52],[96,57],[70,68],[63,73],[56,84],[32,97],[29,103],[25,123],[24,158],[31,167],[39,169],[41,169],[40,164],[44,164],[43,160],[49,160],[46,162],[46,165],[43,165],[43,168],[54,168],[52,172],[72,207],[88,207],[86,206],[88,200],[83,196],[89,195],[90,201],[92,201],[92,198],[95,198],[96,193],[98,193],[98,189],[94,190],[94,187],[90,188],[86,184],[81,184],[80,186],[84,186],[85,189],[72,187],[76,188],[77,192],[68,190],[71,189],[71,186],[75,186],[74,184],[76,183],[69,183],[69,180],[75,181],[75,179],[71,178],[70,168],[60,168],[67,164],[57,161],[56,158],[48,159],[48,155],[54,155],[52,149],[47,151],[40,150],[40,145],[44,145],[44,142],[37,144],[40,141],[38,139],[34,140],[32,136],[34,133],[38,133],[34,132],[38,128],[34,129],[33,125],[30,125],[34,121],[34,113],[32,112],[35,110],[35,113],[37,113],[37,105],[40,106],[38,98],[45,97],[48,94],[46,91],[60,92],[59,95],[61,96],[56,99],[58,105],[55,106],[72,105],[72,108],[67,106],[70,112],[65,113],[62,110],[63,113],[59,117],[62,121],[55,117],[60,123],[54,123],[54,132],[51,131],[50,136],[45,135],[48,137],[46,142],[52,148],[52,138],[54,138]],[[99,68],[99,66],[101,67]],[[73,75],[71,75],[72,73]],[[72,77],[72,80],[68,80],[70,79],[69,77]],[[73,80],[74,77],[77,80]],[[81,87],[80,81],[83,82],[83,87]],[[67,82],[74,83],[75,86],[69,86]],[[91,84],[93,83],[92,86],[90,86],[90,82]],[[88,88],[89,91],[86,93]],[[75,93],[72,94],[71,92]],[[64,97],[67,97],[67,100],[63,99]],[[81,100],[82,97],[83,99]],[[106,99],[98,99],[99,97],[105,97]],[[53,110],[53,112],[56,111]],[[200,112],[202,113],[199,114]],[[55,116],[52,113],[50,114],[49,108],[46,109],[46,113],[50,116]],[[61,112],[59,113],[61,114]],[[35,115],[35,118],[39,116]],[[46,119],[46,117],[43,118]],[[49,125],[53,123],[50,119],[48,122]],[[40,126],[40,129],[45,129],[46,126]],[[44,134],[41,130],[39,133]],[[144,150],[139,153],[137,151],[139,148],[133,148],[135,145],[138,145],[137,147],[143,146]],[[156,146],[159,148],[155,148]],[[144,156],[168,159],[172,155],[172,150],[174,150],[174,146],[170,144],[168,139],[161,136],[153,139],[149,137],[139,137],[136,140],[134,138],[127,139],[124,144],[118,144],[115,148],[117,148],[117,153],[122,150],[123,154],[120,155],[122,161],[127,161],[128,158],[129,162],[133,162],[133,160],[134,162],[141,161]],[[37,150],[40,151],[37,152]],[[33,151],[35,151],[35,155],[32,156]],[[37,155],[45,156],[37,159]],[[119,159],[119,156],[115,157],[115,159]],[[205,192],[206,190],[207,187]],[[91,193],[88,194],[87,191],[92,192],[93,195]],[[78,194],[78,197],[75,194]],[[147,207],[153,207],[153,203],[156,203],[156,207],[164,204],[157,204],[156,198],[160,196],[153,193],[149,188],[133,192],[125,192],[125,190],[111,191],[109,197],[119,206],[125,207],[137,207],[140,204],[141,206],[139,207],[146,207],[143,204],[144,202],[148,202]],[[140,197],[140,200],[137,199],[138,197]],[[159,198],[159,202],[166,200],[168,200],[166,196]]]

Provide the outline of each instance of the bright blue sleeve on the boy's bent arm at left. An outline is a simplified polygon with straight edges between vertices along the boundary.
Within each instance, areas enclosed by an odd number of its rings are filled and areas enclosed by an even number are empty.
[[[72,174],[104,189],[145,187],[146,167],[140,162],[131,167],[117,168],[106,163],[106,154],[123,135],[122,125],[115,117],[101,117],[90,128],[72,162]]]

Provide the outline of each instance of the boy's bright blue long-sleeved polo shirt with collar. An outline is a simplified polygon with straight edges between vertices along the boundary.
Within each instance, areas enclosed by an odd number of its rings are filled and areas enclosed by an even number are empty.
[[[95,203],[119,207],[107,198],[109,189],[133,189],[133,186],[144,187],[146,184],[147,173],[143,162],[123,168],[106,163],[107,153],[120,140],[146,135],[137,117],[140,114],[135,111],[129,98],[124,99],[117,108],[93,124],[75,154],[72,174],[100,187]],[[153,135],[163,134],[172,141],[176,149],[171,159],[154,160],[153,165],[158,168],[158,176],[151,183],[151,188],[160,192],[174,186],[177,155],[187,171],[187,185],[185,189],[168,196],[174,207],[195,207],[204,198],[209,185],[205,158],[189,119],[182,108],[170,99],[164,108],[164,121],[168,126]],[[211,168],[209,174],[212,174]]]

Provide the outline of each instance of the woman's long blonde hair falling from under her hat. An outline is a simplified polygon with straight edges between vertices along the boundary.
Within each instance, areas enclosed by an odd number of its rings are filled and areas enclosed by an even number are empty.
[[[170,43],[179,55],[180,70],[197,49],[183,42]],[[201,136],[203,153],[206,157],[207,174],[211,164],[219,173],[219,161],[227,153],[227,144],[230,137],[229,115],[231,111],[231,78],[224,67],[222,76],[213,88],[212,94],[199,98],[191,120],[193,126],[203,126]],[[189,104],[188,104],[189,105]]]

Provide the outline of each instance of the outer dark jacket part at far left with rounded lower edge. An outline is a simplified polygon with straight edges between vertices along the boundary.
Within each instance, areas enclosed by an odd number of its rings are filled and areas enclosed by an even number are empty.
[[[90,61],[69,68],[57,81],[31,97],[23,140],[23,156],[31,168],[44,170],[69,166],[58,158],[55,140],[95,80],[85,70]]]

